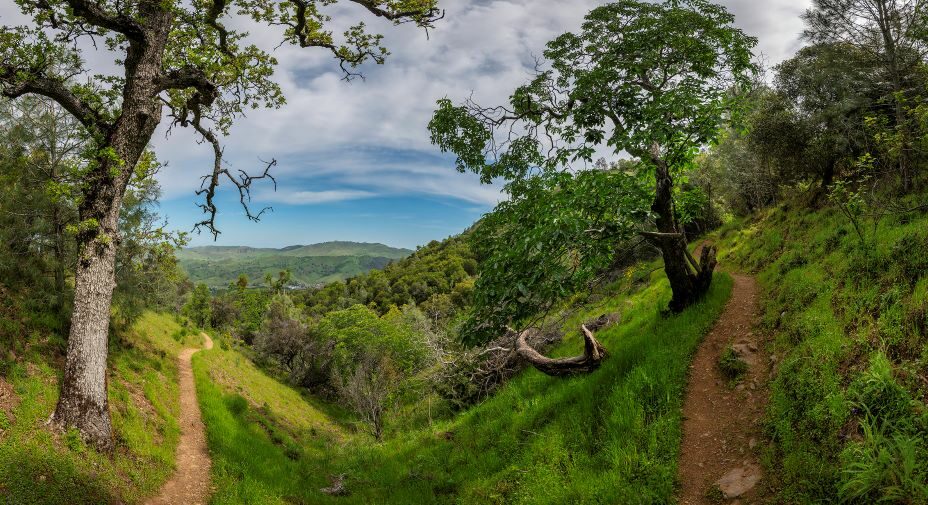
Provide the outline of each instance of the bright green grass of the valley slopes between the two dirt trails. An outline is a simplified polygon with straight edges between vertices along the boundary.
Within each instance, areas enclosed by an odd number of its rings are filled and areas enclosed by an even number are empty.
[[[670,294],[657,272],[643,289],[607,297],[566,324],[572,332],[553,354],[577,352],[580,321],[622,313],[598,335],[610,357],[593,374],[555,379],[527,370],[451,419],[407,430],[394,421],[383,443],[267,382],[234,350],[200,353],[194,370],[214,456],[213,503],[673,501],[688,365],[731,285],[719,274],[704,302],[664,317]],[[335,475],[345,475],[349,496],[320,493]]]

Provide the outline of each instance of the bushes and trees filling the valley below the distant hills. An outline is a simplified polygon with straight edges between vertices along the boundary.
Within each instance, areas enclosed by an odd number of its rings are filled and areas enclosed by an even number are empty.
[[[244,274],[215,295],[199,284],[183,313],[251,345],[267,371],[350,407],[379,437],[388,407],[423,389],[413,377],[447,350],[476,266],[465,237],[452,237],[322,288],[285,290],[286,271],[269,289],[249,289]]]

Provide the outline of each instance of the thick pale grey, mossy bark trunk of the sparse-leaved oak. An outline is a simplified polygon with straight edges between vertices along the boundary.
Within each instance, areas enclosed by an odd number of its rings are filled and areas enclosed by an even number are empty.
[[[161,121],[157,81],[163,74],[162,58],[173,19],[169,10],[157,6],[144,14],[145,36],[128,42],[121,114],[98,141],[96,167],[85,181],[79,208],[74,312],[61,396],[53,415],[56,423],[77,428],[101,450],[113,448],[106,368],[119,214],[136,163]]]

